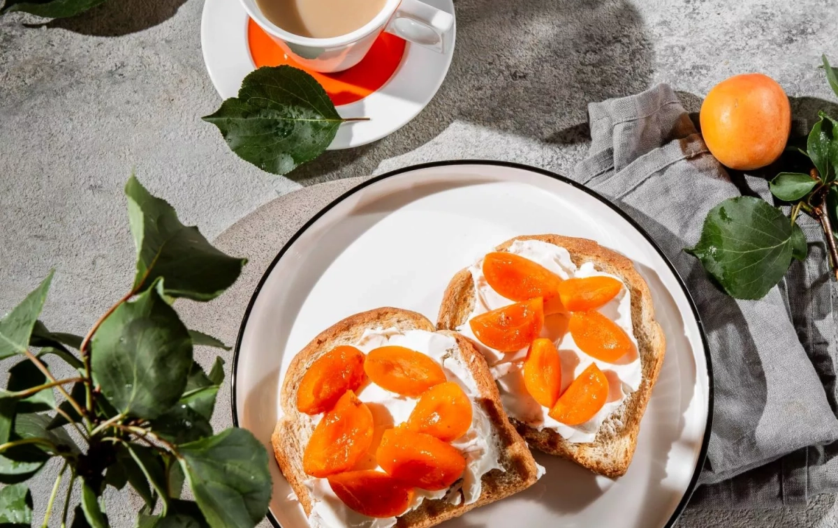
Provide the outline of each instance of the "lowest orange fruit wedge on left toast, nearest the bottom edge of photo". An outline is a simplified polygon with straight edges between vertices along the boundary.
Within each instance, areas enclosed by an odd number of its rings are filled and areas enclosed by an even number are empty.
[[[369,517],[401,515],[413,500],[411,487],[373,469],[334,474],[328,485],[350,509]]]

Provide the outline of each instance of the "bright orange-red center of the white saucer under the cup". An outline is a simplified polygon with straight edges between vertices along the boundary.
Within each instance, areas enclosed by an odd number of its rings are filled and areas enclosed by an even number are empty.
[[[252,19],[247,23],[247,42],[256,68],[288,64],[304,69],[323,85],[334,105],[348,105],[379,90],[396,73],[405,54],[403,39],[381,33],[360,63],[334,74],[321,74],[305,69],[286,57],[282,48]]]

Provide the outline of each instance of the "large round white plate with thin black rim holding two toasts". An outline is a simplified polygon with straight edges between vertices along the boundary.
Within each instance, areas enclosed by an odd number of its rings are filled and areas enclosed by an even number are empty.
[[[623,478],[598,477],[543,454],[529,490],[473,510],[468,526],[670,526],[706,455],[712,386],[701,322],[675,269],[632,220],[587,188],[551,172],[494,161],[448,161],[362,183],[318,213],[266,270],[241,324],[233,365],[233,421],[271,452],[278,387],[308,341],[347,315],[379,306],[435,320],[459,269],[519,234],[592,238],[634,260],[649,283],[666,358]],[[307,526],[277,464],[274,525]]]

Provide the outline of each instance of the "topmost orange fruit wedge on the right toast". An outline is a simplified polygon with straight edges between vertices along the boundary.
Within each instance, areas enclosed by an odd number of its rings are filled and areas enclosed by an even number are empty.
[[[561,277],[541,264],[498,251],[484,257],[483,274],[489,286],[507,299],[521,301],[541,297],[547,315],[564,311],[558,295]]]

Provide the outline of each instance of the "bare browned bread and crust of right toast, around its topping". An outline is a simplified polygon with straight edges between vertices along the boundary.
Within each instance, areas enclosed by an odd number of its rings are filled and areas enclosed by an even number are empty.
[[[631,260],[610,249],[603,248],[587,238],[563,237],[556,234],[528,235],[512,238],[500,244],[498,251],[505,251],[515,240],[541,240],[567,249],[577,267],[592,262],[594,267],[613,274],[629,288],[631,318],[634,337],[638,342],[643,380],[637,391],[629,394],[623,405],[606,418],[592,443],[572,443],[556,431],[544,428],[539,431],[513,419],[515,428],[526,438],[530,447],[547,454],[571,459],[597,474],[618,477],[625,474],[634,456],[640,418],[646,410],[654,382],[658,379],[664,362],[665,338],[660,325],[654,320],[654,307],[649,286],[640,276]],[[454,275],[442,298],[437,322],[438,330],[454,330],[463,325],[472,313],[475,300],[474,282],[468,268]]]

